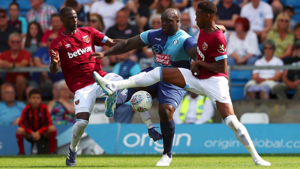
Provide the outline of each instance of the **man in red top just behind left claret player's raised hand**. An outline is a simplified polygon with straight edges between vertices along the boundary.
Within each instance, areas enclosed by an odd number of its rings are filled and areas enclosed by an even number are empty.
[[[42,39],[41,39],[41,46],[47,46],[48,37],[50,34],[56,34],[56,37],[58,34],[63,32],[65,30],[65,27],[62,25],[61,17],[59,14],[53,14],[51,15],[51,30],[46,30]]]

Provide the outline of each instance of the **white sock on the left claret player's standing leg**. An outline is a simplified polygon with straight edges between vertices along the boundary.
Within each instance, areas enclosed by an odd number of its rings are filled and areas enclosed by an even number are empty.
[[[73,133],[72,133],[72,137],[71,137],[71,145],[70,145],[70,149],[73,152],[77,151],[77,145],[81,139],[81,136],[83,135],[84,131],[85,131],[85,127],[89,124],[89,121],[87,120],[82,120],[80,119],[80,121],[77,121],[74,126],[73,126]]]

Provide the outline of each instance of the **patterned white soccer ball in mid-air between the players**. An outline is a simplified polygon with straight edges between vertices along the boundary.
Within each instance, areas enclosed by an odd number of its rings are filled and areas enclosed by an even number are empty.
[[[152,97],[146,91],[137,91],[132,95],[130,103],[135,111],[144,112],[152,106]]]

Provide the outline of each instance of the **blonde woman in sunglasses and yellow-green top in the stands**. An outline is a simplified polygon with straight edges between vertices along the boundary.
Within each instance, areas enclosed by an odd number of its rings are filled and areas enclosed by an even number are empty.
[[[267,39],[274,41],[274,55],[278,58],[284,59],[292,54],[294,35],[290,32],[290,18],[286,13],[278,14]]]

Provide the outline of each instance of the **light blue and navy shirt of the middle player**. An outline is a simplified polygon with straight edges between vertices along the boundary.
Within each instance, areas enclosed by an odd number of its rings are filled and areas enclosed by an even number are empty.
[[[191,58],[187,54],[191,47],[197,46],[195,38],[184,30],[178,30],[175,35],[164,34],[162,28],[147,30],[140,34],[142,41],[150,45],[154,53],[153,67],[182,67],[190,69]]]

